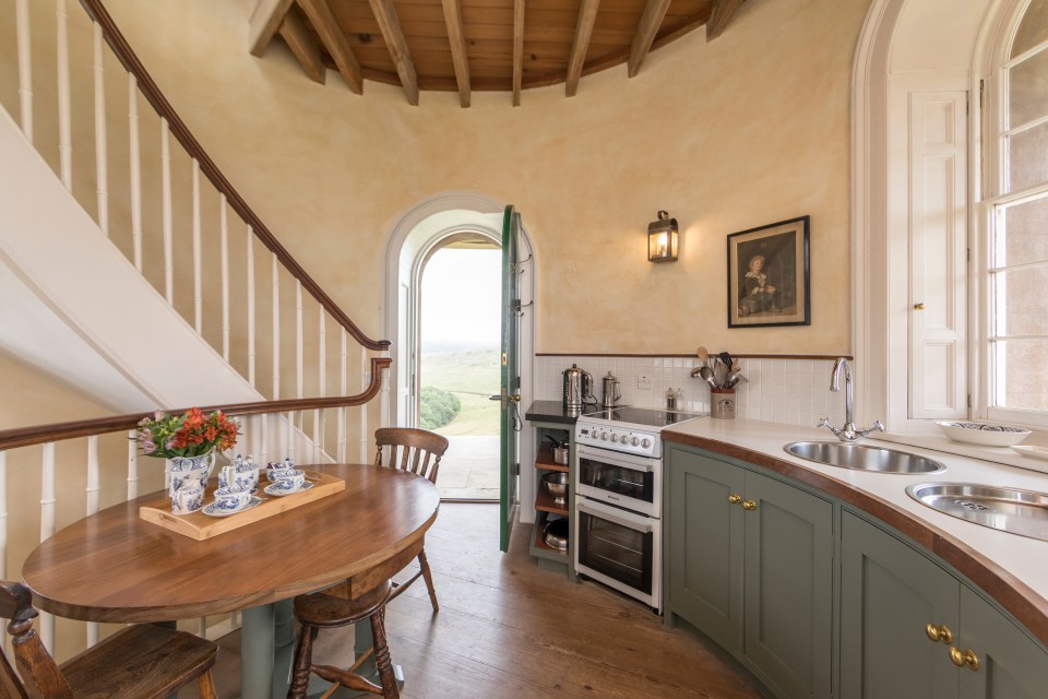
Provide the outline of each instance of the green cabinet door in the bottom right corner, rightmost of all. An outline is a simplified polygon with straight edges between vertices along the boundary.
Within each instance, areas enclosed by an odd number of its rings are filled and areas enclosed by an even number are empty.
[[[961,639],[979,668],[961,670],[961,699],[1043,699],[1048,695],[1048,653],[1008,617],[961,589]]]

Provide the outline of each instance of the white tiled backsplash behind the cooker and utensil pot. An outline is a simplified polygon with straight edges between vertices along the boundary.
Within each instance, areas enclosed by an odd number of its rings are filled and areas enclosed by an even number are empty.
[[[677,410],[710,412],[710,384],[691,378],[695,357],[535,357],[536,400],[559,401],[563,396],[562,372],[572,364],[593,375],[594,395],[599,402],[602,377],[610,371],[622,391],[620,405],[665,407],[666,391],[680,389]],[[739,359],[748,383],[736,389],[736,415],[788,425],[814,426],[830,416],[836,426],[844,423],[844,386],[830,390],[832,360],[825,359]],[[640,377],[651,379],[650,389],[638,388]]]

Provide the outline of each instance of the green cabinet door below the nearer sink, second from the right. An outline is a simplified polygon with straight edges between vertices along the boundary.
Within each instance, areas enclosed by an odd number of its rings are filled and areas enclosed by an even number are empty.
[[[957,696],[950,649],[925,625],[958,632],[960,583],[888,532],[842,517],[841,696]]]

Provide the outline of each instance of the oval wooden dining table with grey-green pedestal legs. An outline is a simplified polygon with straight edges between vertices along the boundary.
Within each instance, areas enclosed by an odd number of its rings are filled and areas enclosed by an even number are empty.
[[[147,623],[242,611],[241,697],[287,692],[291,599],[342,581],[356,597],[409,564],[440,496],[413,473],[359,464],[307,465],[345,489],[194,541],[140,518],[142,496],[84,518],[41,543],[23,567],[34,604],[87,621]],[[235,516],[234,516],[235,517]],[[367,624],[358,624],[370,635]]]

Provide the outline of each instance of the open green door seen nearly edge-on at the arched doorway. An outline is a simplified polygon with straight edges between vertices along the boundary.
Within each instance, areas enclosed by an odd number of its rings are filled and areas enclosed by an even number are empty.
[[[512,205],[502,217],[502,429],[499,497],[499,547],[510,549],[510,530],[516,516],[520,483],[521,428],[521,214]]]

